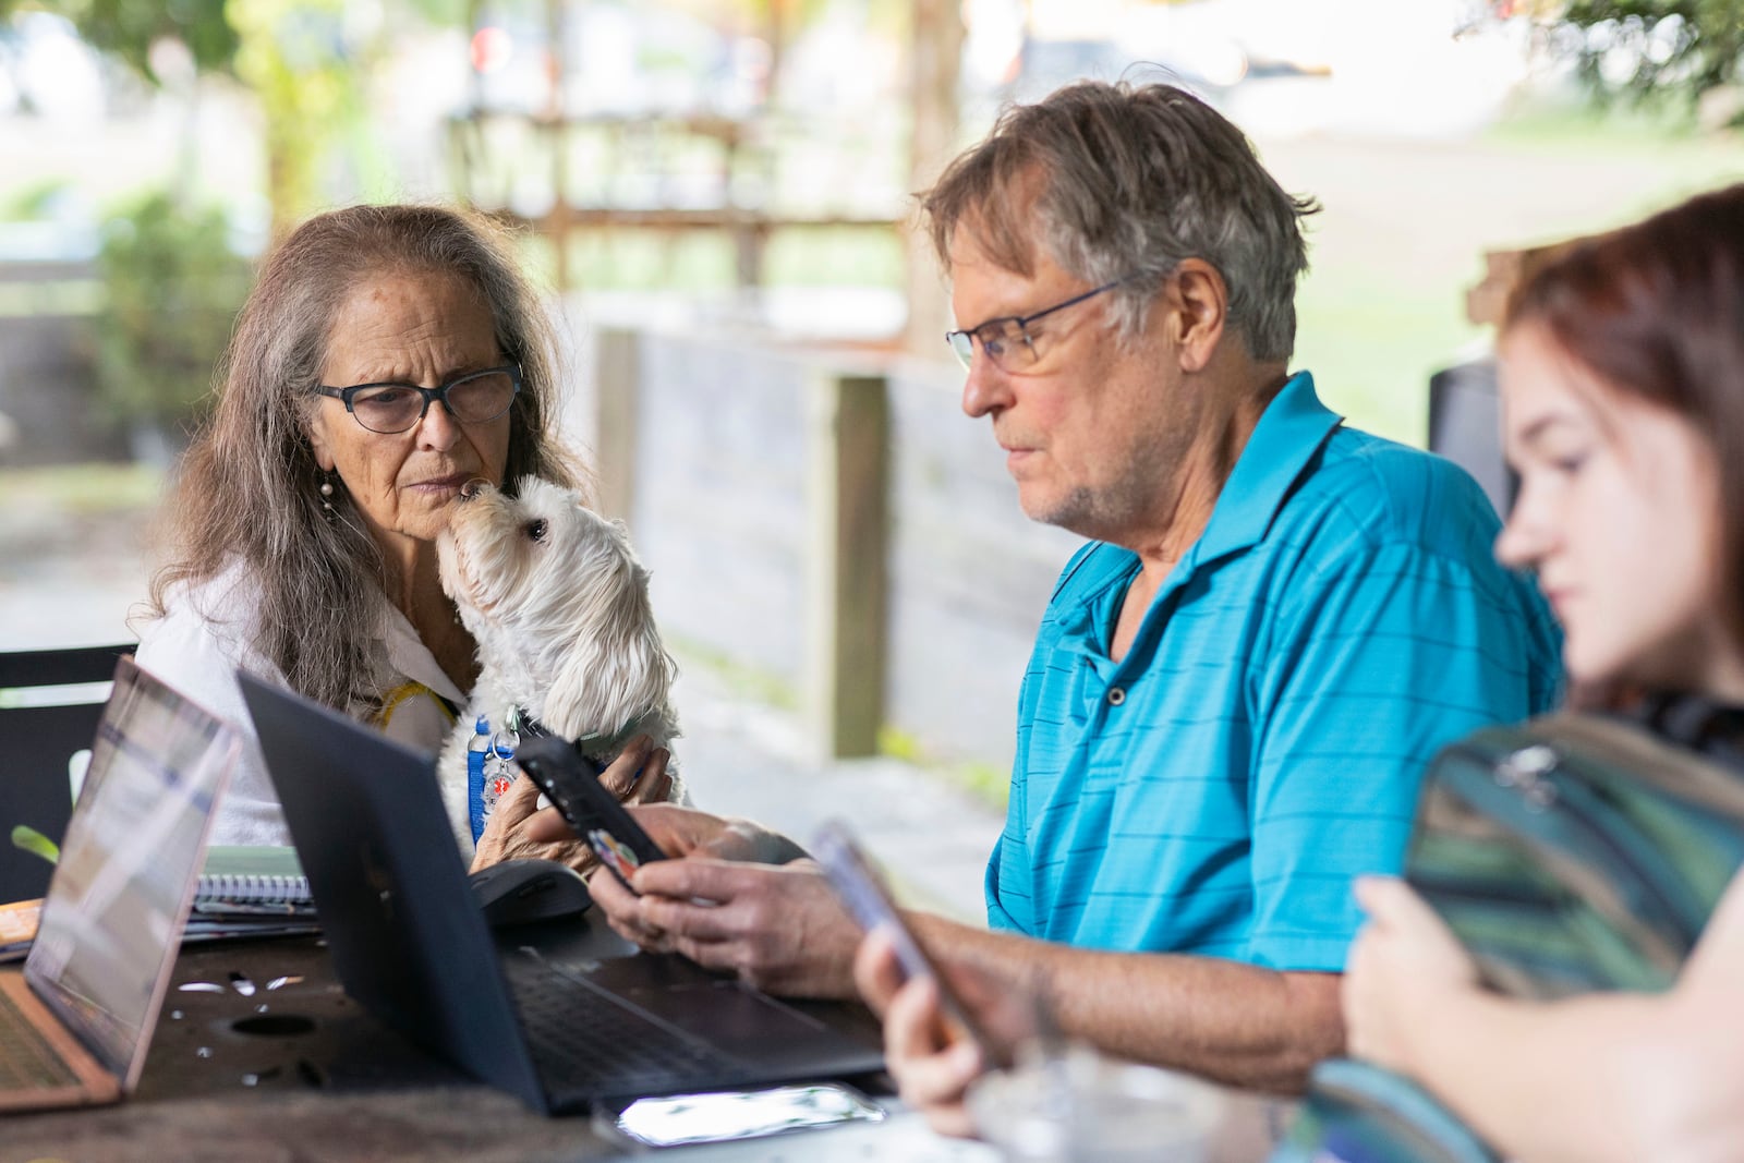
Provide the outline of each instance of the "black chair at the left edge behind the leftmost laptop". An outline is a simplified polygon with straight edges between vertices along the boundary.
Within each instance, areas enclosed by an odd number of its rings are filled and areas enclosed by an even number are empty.
[[[73,814],[66,764],[91,746],[115,659],[133,643],[0,654],[0,901],[42,896],[52,867],[12,844],[12,828],[35,828],[56,844]],[[19,704],[14,704],[19,703]]]

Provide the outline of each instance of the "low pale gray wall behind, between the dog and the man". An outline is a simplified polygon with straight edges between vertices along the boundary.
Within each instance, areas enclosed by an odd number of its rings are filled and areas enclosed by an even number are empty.
[[[849,499],[884,506],[882,546],[835,563],[882,570],[881,609],[867,612],[882,626],[881,659],[863,668],[870,697],[926,755],[1010,765],[1034,628],[1080,541],[1024,518],[987,422],[957,406],[961,377],[694,331],[595,338],[581,343],[593,375],[572,431],[595,446],[602,478],[623,481],[605,507],[628,514],[663,628],[802,701],[830,654],[816,577],[841,544],[818,532],[835,502],[820,441],[862,438],[820,418],[818,401],[832,377],[882,380],[884,495]]]

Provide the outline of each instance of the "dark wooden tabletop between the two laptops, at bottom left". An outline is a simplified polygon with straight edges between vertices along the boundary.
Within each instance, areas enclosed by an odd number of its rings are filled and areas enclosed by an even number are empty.
[[[539,929],[549,926],[535,926],[534,943],[549,947]],[[556,943],[628,949],[586,931]],[[129,1100],[0,1121],[0,1163],[495,1163],[616,1158],[631,1146],[431,1058],[349,999],[309,936],[185,947]]]

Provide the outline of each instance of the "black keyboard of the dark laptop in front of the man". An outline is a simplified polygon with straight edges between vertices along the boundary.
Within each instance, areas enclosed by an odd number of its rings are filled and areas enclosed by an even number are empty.
[[[558,1105],[598,1095],[694,1086],[729,1078],[739,1065],[555,966],[504,957],[502,969],[539,1078]]]

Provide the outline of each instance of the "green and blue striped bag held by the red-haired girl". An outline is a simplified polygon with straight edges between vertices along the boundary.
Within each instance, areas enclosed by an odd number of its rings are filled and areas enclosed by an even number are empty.
[[[1664,990],[1744,863],[1744,774],[1631,722],[1557,713],[1430,765],[1406,879],[1514,997]],[[1495,1163],[1434,1097],[1334,1060],[1273,1163]]]

